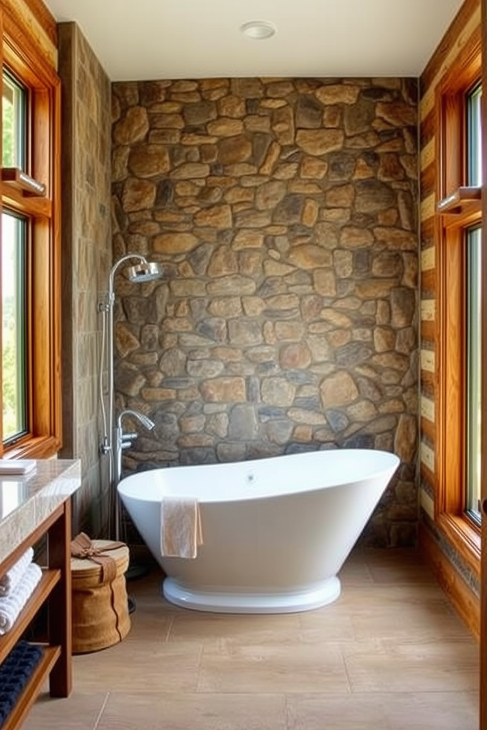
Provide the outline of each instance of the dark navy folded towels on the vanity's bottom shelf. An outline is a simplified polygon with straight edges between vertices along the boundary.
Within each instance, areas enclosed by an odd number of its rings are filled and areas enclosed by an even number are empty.
[[[20,641],[0,665],[0,728],[17,702],[32,672],[39,664],[42,649]]]

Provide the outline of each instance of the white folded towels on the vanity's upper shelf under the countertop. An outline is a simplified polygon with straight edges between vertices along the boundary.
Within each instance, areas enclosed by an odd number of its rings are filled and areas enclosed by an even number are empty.
[[[0,636],[12,629],[20,611],[41,580],[42,570],[32,562],[32,558],[34,550],[29,548],[0,578]]]

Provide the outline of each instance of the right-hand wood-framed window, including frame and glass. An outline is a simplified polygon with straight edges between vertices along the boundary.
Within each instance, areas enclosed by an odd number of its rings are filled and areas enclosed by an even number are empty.
[[[451,69],[437,98],[438,526],[476,572],[480,563],[480,48]]]

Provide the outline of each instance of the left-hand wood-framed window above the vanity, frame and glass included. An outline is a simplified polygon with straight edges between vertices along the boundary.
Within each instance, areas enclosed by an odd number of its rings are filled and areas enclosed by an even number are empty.
[[[42,458],[61,445],[60,84],[28,28],[0,14],[0,456]]]

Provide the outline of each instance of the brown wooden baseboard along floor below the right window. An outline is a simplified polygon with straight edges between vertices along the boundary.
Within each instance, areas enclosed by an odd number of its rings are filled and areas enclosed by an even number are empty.
[[[445,556],[429,529],[421,524],[419,528],[419,548],[428,564],[432,567],[438,583],[450,599],[461,620],[479,641],[480,639],[480,599],[455,566]]]

